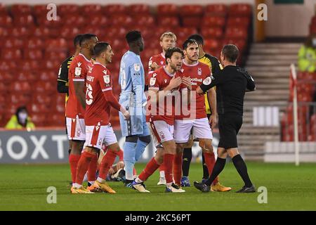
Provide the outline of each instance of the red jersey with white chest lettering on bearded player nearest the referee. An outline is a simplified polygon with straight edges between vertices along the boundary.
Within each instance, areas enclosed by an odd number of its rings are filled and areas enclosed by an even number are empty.
[[[202,84],[204,79],[211,76],[209,66],[199,61],[195,64],[189,65],[185,63],[185,60],[183,60],[181,72],[183,77],[191,77],[192,91],[197,90],[197,87]],[[175,118],[176,120],[182,120],[183,118],[188,117],[192,117],[191,119],[201,119],[206,117],[204,95],[195,94],[195,96],[195,103],[191,103],[189,108],[191,114],[185,116],[177,115]],[[193,111],[195,111],[195,113],[192,113]]]

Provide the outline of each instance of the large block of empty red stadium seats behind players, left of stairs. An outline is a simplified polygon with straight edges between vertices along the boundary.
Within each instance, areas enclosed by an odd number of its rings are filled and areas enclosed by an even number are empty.
[[[0,78],[4,80],[0,92],[11,96],[0,98],[0,126],[4,127],[13,109],[22,103],[36,127],[64,126],[65,98],[56,91],[56,77],[60,63],[74,50],[76,34],[96,33],[100,40],[110,42],[115,56],[108,67],[117,84],[119,60],[127,49],[124,35],[131,29],[143,33],[145,70],[150,56],[159,53],[159,36],[166,30],[176,33],[179,46],[190,34],[202,33],[204,49],[216,57],[223,44],[237,44],[242,52],[238,63],[244,64],[252,39],[251,11],[247,4],[160,4],[154,8],[147,4],[61,4],[57,20],[48,21],[46,5],[0,5]],[[86,20],[88,14],[93,16]],[[115,85],[117,97],[119,92]],[[114,128],[119,126],[117,112],[113,111],[111,121]]]

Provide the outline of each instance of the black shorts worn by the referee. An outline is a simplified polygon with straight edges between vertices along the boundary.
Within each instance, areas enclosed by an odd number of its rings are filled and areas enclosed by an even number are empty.
[[[237,148],[237,134],[242,127],[241,115],[220,115],[218,117],[218,129],[220,141],[218,148]]]

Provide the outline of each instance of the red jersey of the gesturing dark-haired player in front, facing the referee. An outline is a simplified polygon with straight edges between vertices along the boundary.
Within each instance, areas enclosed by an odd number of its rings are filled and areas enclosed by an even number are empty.
[[[158,70],[150,73],[150,84],[148,90],[157,90],[162,91],[169,85],[173,76],[183,77],[181,72],[176,72],[171,75],[166,71],[166,68],[163,66]],[[184,84],[180,84],[177,88],[178,90],[186,89]],[[150,101],[150,100],[148,100]],[[156,112],[151,112],[150,119],[151,120],[164,120],[167,124],[173,125],[174,123],[174,115],[175,115],[175,99],[173,96],[166,96],[164,98],[164,106],[159,105],[157,103]],[[148,110],[151,110],[152,107],[149,107]],[[154,110],[154,109],[153,109]],[[154,115],[155,114],[155,115]]]

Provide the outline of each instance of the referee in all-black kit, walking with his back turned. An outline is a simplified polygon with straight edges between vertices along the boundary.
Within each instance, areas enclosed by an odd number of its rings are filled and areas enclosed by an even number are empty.
[[[220,53],[220,60],[224,67],[217,74],[204,79],[203,84],[197,88],[197,94],[204,94],[207,90],[216,86],[216,100],[218,108],[218,129],[220,141],[218,143],[218,158],[212,174],[206,183],[195,181],[195,187],[202,192],[209,192],[213,180],[225,167],[226,158],[232,158],[237,172],[242,176],[244,187],[237,193],[256,192],[251,183],[246,164],[239,155],[237,148],[237,134],[242,127],[242,115],[244,111],[244,94],[246,91],[254,91],[256,86],[254,79],[246,70],[236,66],[239,50],[237,46],[228,44]]]

